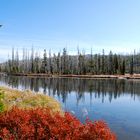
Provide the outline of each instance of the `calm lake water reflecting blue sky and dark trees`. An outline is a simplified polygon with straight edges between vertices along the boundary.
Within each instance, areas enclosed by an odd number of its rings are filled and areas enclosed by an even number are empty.
[[[41,91],[82,122],[105,120],[120,140],[140,140],[140,81],[0,76],[0,85]]]

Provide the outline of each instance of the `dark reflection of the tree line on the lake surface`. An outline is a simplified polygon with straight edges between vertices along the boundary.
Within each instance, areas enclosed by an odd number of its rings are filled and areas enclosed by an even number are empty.
[[[140,82],[136,80],[116,80],[116,79],[72,79],[72,78],[29,78],[29,77],[4,77],[0,76],[1,84],[7,84],[13,88],[30,89],[39,92],[42,89],[44,94],[62,98],[62,102],[67,102],[68,94],[75,92],[77,103],[84,100],[85,94],[90,95],[90,99],[100,98],[102,103],[106,97],[111,102],[121,95],[130,94],[135,100],[135,96],[140,97]]]

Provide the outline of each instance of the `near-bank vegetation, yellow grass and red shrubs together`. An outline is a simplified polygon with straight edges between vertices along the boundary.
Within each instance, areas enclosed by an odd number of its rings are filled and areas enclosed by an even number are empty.
[[[1,139],[116,140],[104,121],[82,124],[52,97],[0,87]]]

